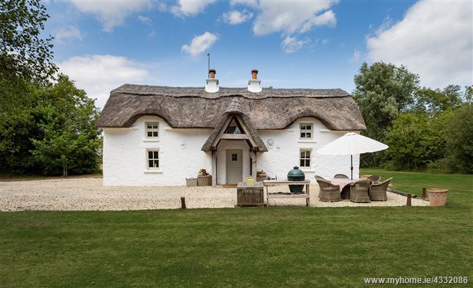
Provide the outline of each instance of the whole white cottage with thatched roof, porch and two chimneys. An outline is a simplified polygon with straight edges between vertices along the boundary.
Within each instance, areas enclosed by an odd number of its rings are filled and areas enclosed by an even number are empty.
[[[184,185],[200,168],[212,184],[237,183],[264,170],[285,178],[350,175],[348,156],[314,154],[347,131],[365,129],[341,89],[220,88],[215,70],[204,87],[125,84],[98,118],[103,128],[104,185]],[[359,157],[353,157],[358,175]]]

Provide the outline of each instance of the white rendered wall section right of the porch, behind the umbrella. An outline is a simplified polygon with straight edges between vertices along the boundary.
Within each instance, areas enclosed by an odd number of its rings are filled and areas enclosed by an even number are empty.
[[[300,122],[312,123],[312,140],[300,139]],[[333,178],[337,173],[343,173],[350,177],[350,155],[332,156],[315,154],[314,151],[323,147],[338,137],[343,136],[346,131],[333,131],[327,129],[319,120],[312,117],[301,118],[293,125],[284,130],[261,130],[259,131],[263,142],[273,139],[273,148],[268,152],[258,153],[256,169],[264,170],[271,177],[278,176],[278,180],[287,178],[293,166],[300,166],[300,149],[312,149],[311,168],[302,168],[307,180],[314,181],[314,175],[324,178]],[[353,178],[358,178],[360,156],[353,155]]]

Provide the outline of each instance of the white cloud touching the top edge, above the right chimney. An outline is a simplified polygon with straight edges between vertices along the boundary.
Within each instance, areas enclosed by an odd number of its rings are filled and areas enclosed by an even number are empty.
[[[261,1],[253,23],[253,33],[306,33],[313,26],[336,24],[335,13],[326,11],[338,1]]]

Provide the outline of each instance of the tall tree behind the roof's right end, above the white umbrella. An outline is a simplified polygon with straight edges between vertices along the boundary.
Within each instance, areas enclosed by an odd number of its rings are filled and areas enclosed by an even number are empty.
[[[382,141],[399,112],[413,103],[418,75],[404,66],[376,62],[363,63],[354,79],[353,96],[366,123],[365,134]]]

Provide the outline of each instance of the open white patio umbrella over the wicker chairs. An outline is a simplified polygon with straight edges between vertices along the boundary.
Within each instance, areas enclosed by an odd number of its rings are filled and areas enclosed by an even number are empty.
[[[342,137],[326,144],[321,149],[315,151],[325,155],[350,155],[351,156],[351,179],[353,180],[353,154],[376,152],[388,149],[389,146],[377,142],[371,138],[348,132]]]

